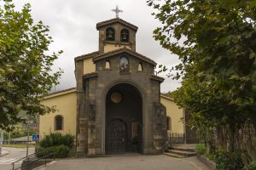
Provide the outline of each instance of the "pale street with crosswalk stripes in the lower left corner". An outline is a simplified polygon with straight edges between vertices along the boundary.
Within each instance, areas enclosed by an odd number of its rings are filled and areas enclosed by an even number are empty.
[[[11,169],[12,162],[19,160],[20,158],[26,156],[26,149],[3,147],[3,150],[9,151],[9,154],[6,156],[0,156],[0,169],[1,170]],[[28,150],[28,154],[34,153],[34,150],[35,150],[34,148],[30,148]],[[17,162],[17,164],[21,164],[21,161]]]

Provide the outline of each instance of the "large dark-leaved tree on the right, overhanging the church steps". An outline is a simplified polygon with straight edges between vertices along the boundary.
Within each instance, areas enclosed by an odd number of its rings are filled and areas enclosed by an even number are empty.
[[[209,125],[207,131],[219,134],[219,147],[243,150],[238,131],[256,125],[255,0],[149,0],[148,5],[162,23],[154,38],[182,61],[174,68],[180,71],[175,78],[183,77],[174,94],[177,104],[191,112],[192,124]]]

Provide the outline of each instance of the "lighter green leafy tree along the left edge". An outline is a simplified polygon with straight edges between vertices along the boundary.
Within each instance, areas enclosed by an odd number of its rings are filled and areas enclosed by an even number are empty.
[[[12,0],[0,0],[0,128],[21,122],[20,111],[34,116],[54,111],[40,96],[58,83],[61,70],[51,66],[59,54],[49,54],[49,26],[33,23],[31,6],[15,11]]]

